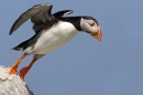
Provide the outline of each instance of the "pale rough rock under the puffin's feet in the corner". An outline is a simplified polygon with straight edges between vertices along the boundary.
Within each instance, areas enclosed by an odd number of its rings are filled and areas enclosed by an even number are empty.
[[[0,95],[34,95],[19,75],[10,75],[9,71],[0,65]]]

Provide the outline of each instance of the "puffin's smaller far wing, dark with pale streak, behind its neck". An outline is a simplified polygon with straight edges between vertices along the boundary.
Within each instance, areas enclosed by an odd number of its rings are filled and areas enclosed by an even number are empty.
[[[64,18],[70,13],[73,13],[73,10],[63,10],[63,11],[58,11],[58,12],[54,13],[53,15],[56,18]]]

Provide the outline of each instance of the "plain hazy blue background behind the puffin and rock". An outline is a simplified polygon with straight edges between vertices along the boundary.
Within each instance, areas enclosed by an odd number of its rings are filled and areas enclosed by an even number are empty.
[[[28,21],[11,36],[15,19],[34,4],[52,3],[53,13],[99,21],[102,41],[80,32],[63,48],[37,61],[25,77],[35,95],[143,95],[143,0],[1,0],[0,64],[11,66],[22,52],[11,49],[34,32]],[[26,66],[28,56],[19,66]]]

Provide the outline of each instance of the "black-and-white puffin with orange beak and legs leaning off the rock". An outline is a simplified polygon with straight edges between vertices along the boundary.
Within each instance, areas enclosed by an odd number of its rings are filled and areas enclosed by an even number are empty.
[[[9,74],[19,74],[24,81],[25,75],[37,60],[63,46],[79,32],[85,32],[94,39],[101,41],[101,28],[95,18],[89,15],[66,17],[73,13],[73,10],[63,10],[52,14],[52,8],[53,4],[51,3],[33,6],[22,13],[11,27],[10,35],[25,21],[31,19],[35,34],[12,49],[23,51],[23,54],[11,66]],[[33,60],[18,73],[19,64],[28,55],[33,55]]]

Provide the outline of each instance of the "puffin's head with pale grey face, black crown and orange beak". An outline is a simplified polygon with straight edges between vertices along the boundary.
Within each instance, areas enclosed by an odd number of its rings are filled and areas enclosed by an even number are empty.
[[[89,33],[92,38],[98,41],[102,39],[102,32],[98,24],[98,21],[92,17],[81,17],[80,28],[82,31]]]

